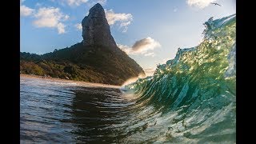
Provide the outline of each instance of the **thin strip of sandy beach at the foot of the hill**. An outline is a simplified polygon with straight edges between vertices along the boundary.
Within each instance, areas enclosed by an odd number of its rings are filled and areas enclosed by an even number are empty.
[[[74,81],[74,80],[68,80],[68,79],[62,79],[62,78],[52,78],[52,77],[42,78],[42,76],[30,75],[30,74],[20,74],[19,76],[20,76],[20,78],[38,78],[38,79],[42,79],[42,80],[46,80],[46,81],[76,83],[76,84],[78,84],[78,86],[85,86],[85,87],[106,87],[106,88],[114,88],[114,89],[119,89],[121,87],[121,86],[116,86],[116,85],[108,85],[108,84],[104,84],[104,83]]]

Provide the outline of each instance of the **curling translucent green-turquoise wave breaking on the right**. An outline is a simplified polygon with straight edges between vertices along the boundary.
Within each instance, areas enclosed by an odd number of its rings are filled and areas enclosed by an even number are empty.
[[[205,26],[198,46],[179,49],[154,76],[125,86],[138,104],[160,115],[154,118],[157,131],[131,138],[156,134],[162,142],[235,142],[236,15],[210,18]]]

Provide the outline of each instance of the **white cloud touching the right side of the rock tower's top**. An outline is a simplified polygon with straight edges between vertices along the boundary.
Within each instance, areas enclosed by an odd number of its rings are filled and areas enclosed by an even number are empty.
[[[124,14],[124,13],[114,13],[114,10],[105,10],[106,19],[109,25],[117,24],[120,28],[123,27],[122,32],[126,32],[128,30],[128,26],[133,21],[132,14]]]

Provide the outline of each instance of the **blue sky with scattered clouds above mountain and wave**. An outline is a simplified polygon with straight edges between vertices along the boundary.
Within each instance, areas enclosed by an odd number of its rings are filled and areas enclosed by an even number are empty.
[[[178,48],[198,46],[210,17],[236,14],[235,0],[21,0],[20,51],[46,54],[82,42],[82,18],[96,3],[118,47],[146,74]]]

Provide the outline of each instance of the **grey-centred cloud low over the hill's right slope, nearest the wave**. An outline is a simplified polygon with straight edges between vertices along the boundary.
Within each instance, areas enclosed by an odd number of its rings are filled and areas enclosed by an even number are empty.
[[[118,47],[125,51],[126,54],[144,54],[145,56],[153,56],[154,53],[147,53],[148,50],[154,50],[156,47],[160,47],[160,43],[153,38],[143,38],[134,43],[132,47],[118,44]]]

